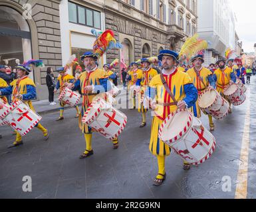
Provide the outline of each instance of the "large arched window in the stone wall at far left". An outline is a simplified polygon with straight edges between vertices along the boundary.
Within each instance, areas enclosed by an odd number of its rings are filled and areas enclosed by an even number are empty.
[[[1,6],[0,13],[0,64],[13,69],[16,59],[22,64],[32,58],[31,32],[27,21],[14,9]]]

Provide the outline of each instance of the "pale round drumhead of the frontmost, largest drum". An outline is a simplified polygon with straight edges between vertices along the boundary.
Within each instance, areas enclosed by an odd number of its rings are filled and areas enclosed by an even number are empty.
[[[191,114],[189,111],[178,111],[174,117],[169,115],[164,124],[162,125],[161,139],[162,140],[172,140],[176,136],[180,136],[181,132],[184,132],[184,127],[187,127],[188,122],[190,122]]]

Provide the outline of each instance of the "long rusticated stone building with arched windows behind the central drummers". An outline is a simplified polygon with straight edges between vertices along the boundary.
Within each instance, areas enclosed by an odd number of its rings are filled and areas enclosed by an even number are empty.
[[[126,64],[142,57],[156,56],[162,49],[179,51],[188,36],[197,31],[197,1],[106,0],[106,29],[124,45]],[[109,50],[107,62],[120,57]]]

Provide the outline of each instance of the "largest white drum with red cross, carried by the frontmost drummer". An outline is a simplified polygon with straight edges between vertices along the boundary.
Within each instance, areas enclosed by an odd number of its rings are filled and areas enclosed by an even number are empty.
[[[215,137],[188,110],[170,114],[160,127],[158,136],[192,165],[202,164],[215,150]]]

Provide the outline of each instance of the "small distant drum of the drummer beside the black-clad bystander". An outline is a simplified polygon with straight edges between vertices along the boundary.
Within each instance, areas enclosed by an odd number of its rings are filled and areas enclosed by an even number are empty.
[[[59,101],[63,101],[67,105],[75,107],[80,101],[80,94],[65,87],[59,95]]]

